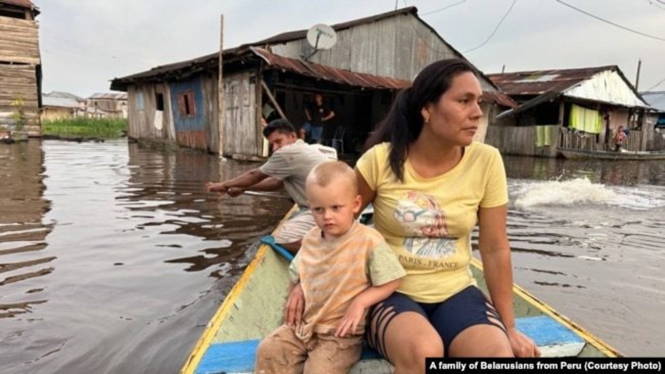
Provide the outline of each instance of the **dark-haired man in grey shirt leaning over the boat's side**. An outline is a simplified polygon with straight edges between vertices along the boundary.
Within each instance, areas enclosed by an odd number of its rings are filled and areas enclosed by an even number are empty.
[[[305,179],[315,166],[330,158],[317,146],[300,140],[291,122],[285,119],[270,122],[263,128],[263,136],[273,149],[265,164],[223,182],[207,182],[205,190],[236,197],[245,190],[275,191],[285,188],[298,204],[299,211],[275,233],[275,243],[295,253],[303,236],[315,226],[305,198]]]

